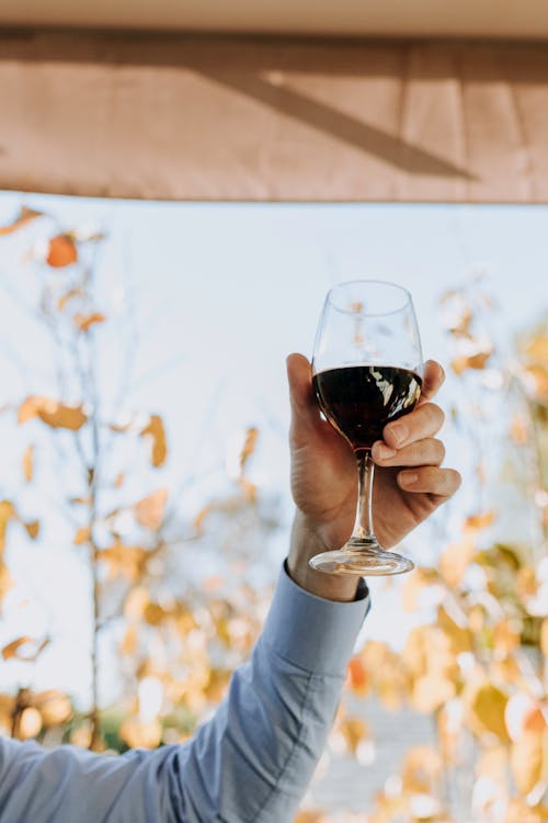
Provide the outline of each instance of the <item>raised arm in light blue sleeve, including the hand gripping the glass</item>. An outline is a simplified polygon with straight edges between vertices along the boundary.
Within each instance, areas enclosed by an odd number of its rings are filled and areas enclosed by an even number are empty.
[[[1,823],[290,823],[331,726],[368,594],[354,577],[312,572],[308,559],[352,531],[355,462],[321,419],[310,364],[288,359],[292,397],[292,545],[264,631],[212,720],[184,746],[119,757],[71,746],[46,752],[0,741]],[[443,380],[430,362],[422,403],[385,429],[375,510],[389,546],[458,487],[434,439]],[[390,451],[386,451],[389,449]],[[391,452],[391,453],[390,453]]]

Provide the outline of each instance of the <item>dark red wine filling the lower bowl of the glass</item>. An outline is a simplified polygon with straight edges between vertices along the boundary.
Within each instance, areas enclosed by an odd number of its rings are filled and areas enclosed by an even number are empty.
[[[345,365],[315,374],[312,385],[321,410],[356,451],[370,449],[387,422],[412,412],[422,380],[391,365]]]

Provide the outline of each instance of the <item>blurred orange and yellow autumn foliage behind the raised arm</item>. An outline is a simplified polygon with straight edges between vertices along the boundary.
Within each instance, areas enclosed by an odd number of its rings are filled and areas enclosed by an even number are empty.
[[[8,624],[24,624],[18,616],[30,604],[13,596],[10,541],[18,533],[37,543],[53,533],[48,519],[60,517],[71,534],[62,551],[77,555],[89,579],[90,694],[83,704],[58,688],[34,689],[32,670],[55,643],[55,621],[34,634],[15,630],[1,650],[14,688],[0,694],[0,729],[95,752],[183,742],[221,700],[266,613],[275,566],[256,546],[281,519],[276,500],[249,476],[261,432],[243,432],[222,489],[182,516],[179,495],[193,478],[165,483],[162,417],[125,403],[138,352],[125,318],[130,305],[110,313],[98,294],[107,238],[23,208],[0,228],[0,243],[30,224],[43,228],[28,247],[27,280],[4,277],[2,288],[36,329],[36,347],[47,339],[57,391],[43,394],[36,377],[26,396],[1,408],[23,440],[20,477],[0,501],[0,600]],[[473,447],[466,478],[473,507],[457,532],[447,525],[438,535],[435,562],[397,589],[415,616],[401,647],[361,641],[298,823],[548,820],[548,318],[501,347],[491,332],[495,312],[481,278],[441,295],[456,375],[449,425]],[[105,387],[109,349],[99,341],[109,325],[125,353]],[[33,383],[33,363],[20,368]],[[429,733],[420,726],[421,740],[390,764],[367,808],[333,809],[321,791],[328,771],[341,774],[333,763],[352,763],[358,781],[376,769],[372,712],[392,714],[390,734],[401,730],[407,740],[418,715]]]

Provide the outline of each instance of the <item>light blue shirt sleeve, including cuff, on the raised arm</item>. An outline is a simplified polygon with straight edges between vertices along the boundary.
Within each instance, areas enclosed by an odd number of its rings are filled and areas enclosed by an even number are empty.
[[[1,823],[289,823],[333,722],[369,609],[282,572],[227,698],[185,745],[119,756],[0,737]]]

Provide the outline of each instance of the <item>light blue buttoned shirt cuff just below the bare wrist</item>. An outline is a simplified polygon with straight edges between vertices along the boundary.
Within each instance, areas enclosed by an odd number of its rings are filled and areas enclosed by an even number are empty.
[[[369,590],[365,580],[361,580],[355,600],[326,600],[297,586],[284,564],[262,641],[300,668],[317,674],[341,675],[346,669],[369,608]]]

